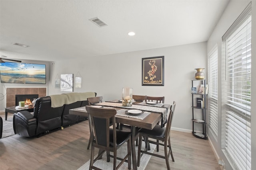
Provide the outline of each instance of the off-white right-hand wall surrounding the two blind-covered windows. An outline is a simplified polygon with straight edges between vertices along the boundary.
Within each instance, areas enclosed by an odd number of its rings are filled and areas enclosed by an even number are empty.
[[[222,17],[218,21],[214,31],[212,32],[208,43],[207,43],[207,53],[214,47],[214,45],[218,44],[218,139],[214,139],[214,135],[208,131],[208,137],[216,150],[218,157],[222,158],[225,162],[226,170],[231,170],[232,166],[224,156],[222,152],[222,125],[221,125],[221,80],[222,80],[222,36],[228,30],[228,28],[232,25],[232,23],[238,18],[238,16],[242,13],[242,11],[246,8],[250,1],[248,0],[231,0],[224,11]],[[254,59],[256,55],[256,1],[252,1],[252,81],[251,81],[251,146],[252,146],[252,169],[256,167],[256,115],[255,110],[256,106],[254,105],[256,100],[256,60]]]

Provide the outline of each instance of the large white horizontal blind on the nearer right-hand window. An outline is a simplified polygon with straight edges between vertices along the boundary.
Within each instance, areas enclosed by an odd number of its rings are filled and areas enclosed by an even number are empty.
[[[222,37],[226,47],[223,87],[224,150],[238,170],[251,169],[251,6]]]

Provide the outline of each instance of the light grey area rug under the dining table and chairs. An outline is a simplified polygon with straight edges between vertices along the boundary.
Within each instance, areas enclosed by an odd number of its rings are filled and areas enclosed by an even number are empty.
[[[145,148],[145,143],[142,142],[142,149]],[[150,143],[150,150],[149,152],[154,152],[156,145]],[[135,147],[136,149],[136,158],[138,156],[138,147]],[[124,158],[125,154],[127,153],[127,145],[123,145],[117,150],[117,156],[120,158]],[[110,154],[113,154],[110,152]],[[98,155],[98,154],[97,154]],[[94,156],[94,158],[97,157]],[[150,160],[151,155],[149,154],[143,154],[140,158],[140,167],[138,167],[138,170],[144,170],[148,164],[148,161]],[[118,165],[120,163],[120,160],[116,161],[116,164]],[[112,170],[113,169],[113,158],[110,158],[110,162],[107,162],[106,152],[103,154],[102,159],[97,160],[94,164],[97,168],[103,169],[103,170]],[[78,170],[88,170],[90,167],[90,160],[86,162],[84,165],[82,165]],[[124,162],[122,166],[119,168],[120,170],[128,170],[128,163]]]

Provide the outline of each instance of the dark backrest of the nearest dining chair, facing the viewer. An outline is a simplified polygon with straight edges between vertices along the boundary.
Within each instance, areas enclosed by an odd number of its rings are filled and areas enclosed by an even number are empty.
[[[116,109],[86,106],[86,111],[89,116],[90,137],[95,139],[91,145],[109,147],[111,141],[113,145],[116,145],[116,128],[113,128],[113,139],[110,139],[110,118],[115,124]]]

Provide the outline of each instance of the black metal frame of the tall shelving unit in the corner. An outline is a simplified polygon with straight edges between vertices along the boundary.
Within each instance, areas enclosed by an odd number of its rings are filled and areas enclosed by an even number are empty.
[[[198,137],[200,139],[207,139],[207,134],[206,134],[206,111],[207,111],[207,96],[208,94],[205,94],[206,92],[206,80],[191,80],[192,82],[192,87],[194,87],[194,82],[195,81],[200,81],[200,84],[204,85],[204,93],[191,93],[192,94],[192,125],[193,125],[193,131],[192,134],[195,137]],[[197,83],[198,84],[198,83]],[[197,103],[194,103],[195,98],[202,98],[203,99],[203,106],[197,107]],[[197,101],[196,101],[197,102]],[[202,111],[202,116],[197,115],[196,117],[201,117],[200,119],[194,119],[195,114],[200,114],[200,113],[195,113],[195,109],[200,109]],[[202,133],[198,133],[194,131],[194,126],[195,125],[202,126]]]

